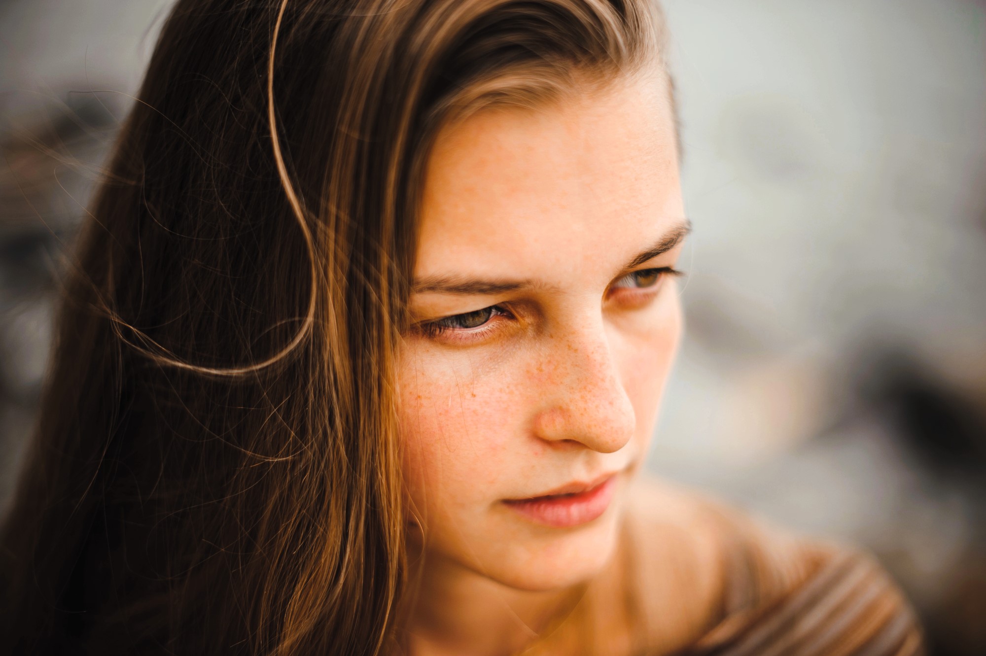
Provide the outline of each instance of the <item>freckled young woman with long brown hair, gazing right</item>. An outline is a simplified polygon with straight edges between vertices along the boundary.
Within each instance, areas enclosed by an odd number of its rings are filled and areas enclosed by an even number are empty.
[[[2,532],[36,654],[921,651],[872,559],[631,485],[688,233],[646,0],[180,0]]]

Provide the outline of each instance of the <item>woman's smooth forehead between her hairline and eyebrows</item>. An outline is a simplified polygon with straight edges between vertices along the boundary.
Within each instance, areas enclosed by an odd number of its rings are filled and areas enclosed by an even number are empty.
[[[446,126],[427,167],[415,277],[557,282],[660,237],[683,216],[666,85],[621,80]]]

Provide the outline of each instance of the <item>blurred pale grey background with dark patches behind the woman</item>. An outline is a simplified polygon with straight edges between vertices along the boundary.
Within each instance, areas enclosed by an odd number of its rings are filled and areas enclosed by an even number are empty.
[[[169,5],[0,0],[0,512]],[[664,5],[695,232],[651,470],[867,547],[986,654],[986,2]]]

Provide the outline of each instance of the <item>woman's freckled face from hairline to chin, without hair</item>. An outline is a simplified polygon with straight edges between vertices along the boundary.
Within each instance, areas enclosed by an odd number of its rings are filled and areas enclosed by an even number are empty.
[[[450,124],[421,221],[398,412],[425,552],[520,589],[585,580],[681,332],[667,83]]]

